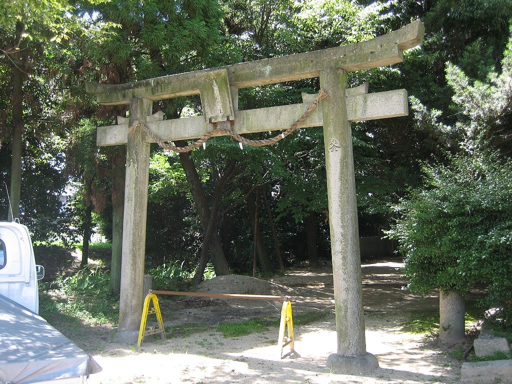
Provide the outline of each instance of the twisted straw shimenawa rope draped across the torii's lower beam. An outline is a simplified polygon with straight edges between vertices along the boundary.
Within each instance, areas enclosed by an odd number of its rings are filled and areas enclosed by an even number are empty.
[[[142,128],[142,130],[144,130],[144,132],[147,134],[147,136],[150,136],[153,140],[155,140],[155,142],[158,145],[160,145],[165,150],[181,152],[181,153],[190,152],[190,151],[194,150],[195,148],[198,148],[201,145],[203,145],[203,143],[205,143],[210,137],[221,136],[221,135],[231,136],[233,139],[235,139],[243,144],[247,144],[247,145],[252,145],[252,146],[270,145],[270,144],[275,144],[276,142],[284,139],[286,136],[289,136],[293,132],[295,132],[295,130],[304,122],[304,120],[306,120],[306,118],[311,114],[311,112],[313,112],[313,110],[316,108],[318,103],[326,97],[327,97],[327,92],[325,92],[324,90],[320,90],[316,99],[313,101],[313,103],[310,105],[310,107],[306,110],[306,112],[304,112],[304,114],[297,121],[295,121],[285,132],[283,132],[282,134],[279,134],[277,136],[274,136],[270,139],[249,140],[249,139],[243,137],[233,131],[234,122],[232,120],[229,121],[230,128],[218,128],[217,127],[218,124],[213,123],[214,124],[213,130],[211,130],[210,132],[208,132],[207,134],[205,134],[204,136],[202,136],[201,138],[199,138],[197,141],[193,142],[192,144],[182,146],[182,147],[165,143],[162,139],[158,138],[153,132],[151,132],[147,128],[147,126],[143,123],[137,123],[137,124],[133,125],[132,127],[130,127],[128,134],[130,136],[133,136],[135,131],[140,127],[140,128]]]

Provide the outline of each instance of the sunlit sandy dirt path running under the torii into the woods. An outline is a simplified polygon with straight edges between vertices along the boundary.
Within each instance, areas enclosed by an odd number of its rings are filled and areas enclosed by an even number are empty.
[[[108,383],[437,383],[455,382],[460,362],[446,353],[435,338],[403,330],[419,312],[437,310],[437,297],[419,300],[401,289],[397,260],[362,266],[367,350],[380,369],[366,376],[339,375],[325,366],[336,351],[334,316],[295,327],[295,349],[300,358],[280,358],[275,346],[278,328],[237,338],[224,338],[214,325],[247,318],[278,319],[279,302],[160,299],[167,329],[196,324],[206,331],[169,340],[147,339],[141,348],[108,344],[108,329],[77,342],[91,353],[103,371],[91,384]],[[297,296],[294,315],[333,309],[332,272],[293,270],[273,279]],[[211,326],[209,326],[211,325]]]

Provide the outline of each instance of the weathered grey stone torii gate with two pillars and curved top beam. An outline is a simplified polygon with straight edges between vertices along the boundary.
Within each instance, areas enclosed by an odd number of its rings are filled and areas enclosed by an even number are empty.
[[[378,367],[366,351],[365,321],[350,122],[405,116],[406,90],[367,94],[367,85],[347,88],[347,72],[389,66],[403,60],[402,51],[423,41],[418,20],[397,31],[357,44],[275,57],[216,69],[180,73],[106,85],[88,83],[88,93],[103,105],[130,104],[130,117],[98,128],[97,144],[126,145],[126,181],[121,263],[119,328],[111,339],[136,343],[143,302],[144,248],[150,143],[197,139],[226,124],[238,134],[286,130],[316,95],[303,103],[256,110],[238,110],[238,90],[289,80],[319,77],[327,97],[301,127],[323,126],[329,199],[337,353],[327,366],[338,373],[370,372]],[[201,96],[203,116],[163,120],[152,115],[156,100]],[[133,129],[143,126],[144,129]],[[130,135],[129,129],[132,129]]]

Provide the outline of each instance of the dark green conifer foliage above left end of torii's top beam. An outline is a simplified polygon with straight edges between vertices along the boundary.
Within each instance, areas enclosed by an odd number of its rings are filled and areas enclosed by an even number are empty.
[[[96,22],[115,23],[111,37],[91,50],[100,65],[98,80],[127,82],[201,69],[208,49],[219,40],[217,2],[122,0],[83,4]]]

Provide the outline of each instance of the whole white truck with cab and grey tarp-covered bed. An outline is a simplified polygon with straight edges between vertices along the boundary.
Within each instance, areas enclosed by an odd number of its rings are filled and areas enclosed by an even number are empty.
[[[78,384],[97,362],[38,315],[38,278],[30,233],[0,221],[0,384]]]

